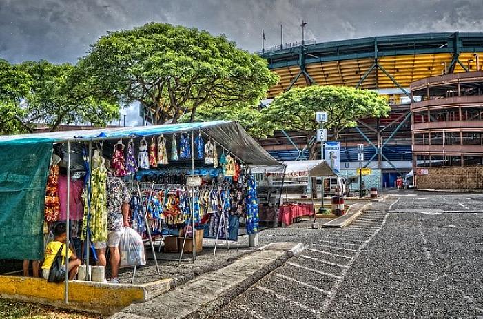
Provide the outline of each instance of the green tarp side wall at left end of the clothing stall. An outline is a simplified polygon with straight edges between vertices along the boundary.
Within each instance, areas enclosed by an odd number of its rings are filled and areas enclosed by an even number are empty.
[[[49,139],[0,143],[0,259],[43,259]]]

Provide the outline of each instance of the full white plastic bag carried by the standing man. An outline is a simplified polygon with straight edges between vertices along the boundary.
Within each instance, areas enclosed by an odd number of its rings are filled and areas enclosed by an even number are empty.
[[[121,243],[121,268],[146,265],[143,238],[130,227],[123,227]]]

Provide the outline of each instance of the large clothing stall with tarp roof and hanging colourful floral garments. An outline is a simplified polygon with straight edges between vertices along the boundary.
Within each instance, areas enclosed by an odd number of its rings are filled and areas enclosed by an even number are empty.
[[[66,220],[88,262],[106,236],[106,160],[130,189],[130,226],[151,246],[184,236],[181,253],[192,238],[193,259],[198,234],[258,232],[251,167],[280,165],[234,121],[0,136],[0,258],[41,260],[48,225]]]

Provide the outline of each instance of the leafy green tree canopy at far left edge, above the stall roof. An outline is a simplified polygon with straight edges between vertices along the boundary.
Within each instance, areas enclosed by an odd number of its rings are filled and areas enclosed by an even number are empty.
[[[32,132],[39,124],[52,131],[70,123],[103,126],[119,117],[118,104],[96,99],[82,83],[68,63],[0,61],[1,133]]]

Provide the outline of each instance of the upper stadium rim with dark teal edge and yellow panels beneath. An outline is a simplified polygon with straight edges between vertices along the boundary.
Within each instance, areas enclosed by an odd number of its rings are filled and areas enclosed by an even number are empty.
[[[411,82],[444,72],[477,70],[483,32],[404,34],[269,49],[260,56],[280,76],[274,97],[310,84],[408,88]],[[392,78],[392,79],[391,79]],[[397,84],[396,84],[397,83]]]

